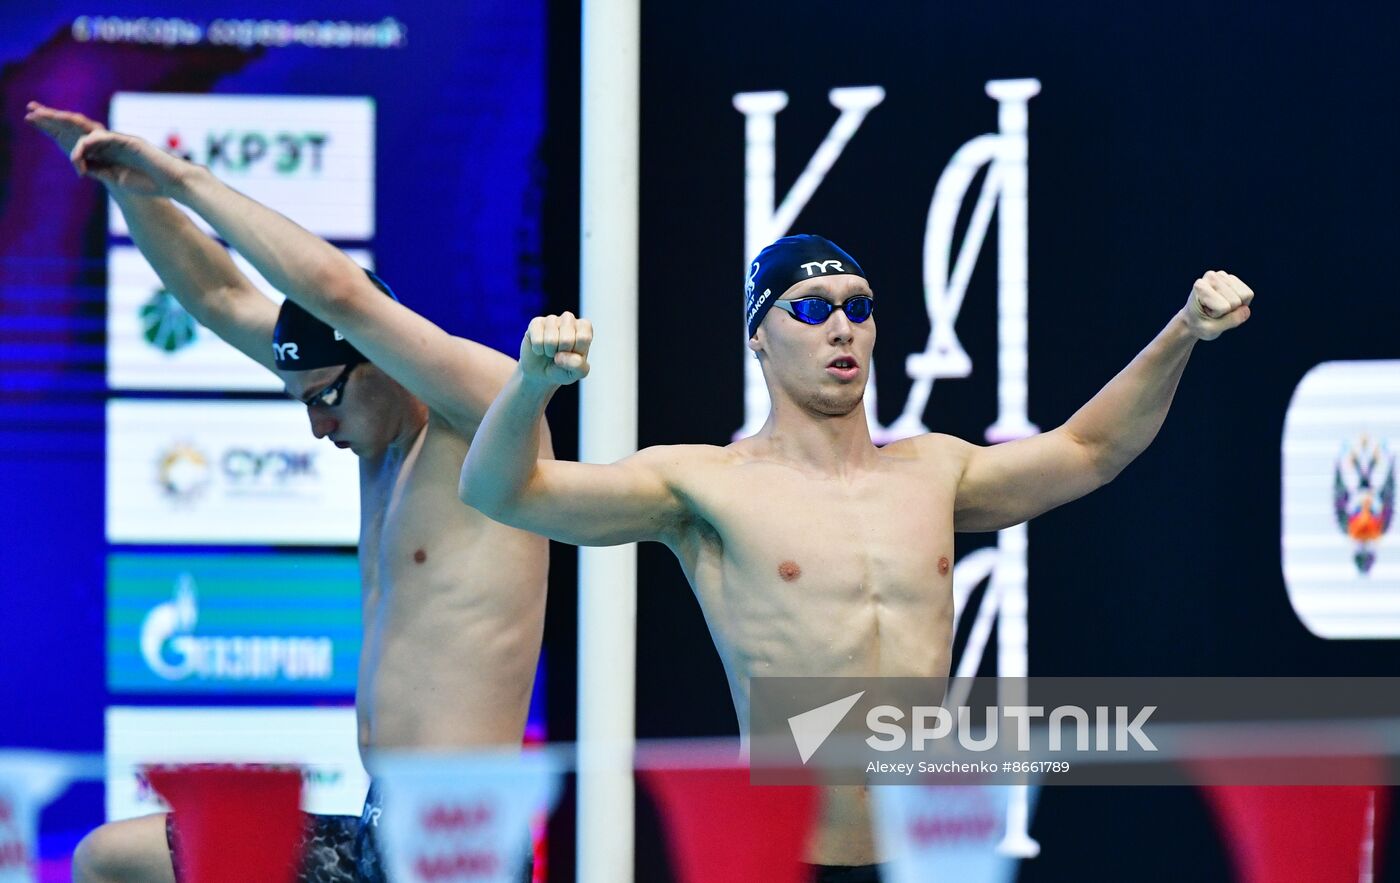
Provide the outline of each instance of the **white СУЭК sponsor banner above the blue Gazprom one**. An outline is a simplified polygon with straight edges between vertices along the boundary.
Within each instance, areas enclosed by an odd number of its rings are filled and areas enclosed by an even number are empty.
[[[111,543],[351,546],[356,456],[311,435],[297,402],[106,406]]]

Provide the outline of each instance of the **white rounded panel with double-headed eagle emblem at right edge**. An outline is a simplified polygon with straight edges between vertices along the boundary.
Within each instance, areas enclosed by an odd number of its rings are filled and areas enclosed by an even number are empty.
[[[1322,638],[1400,638],[1400,361],[1323,362],[1284,418],[1288,600]]]

